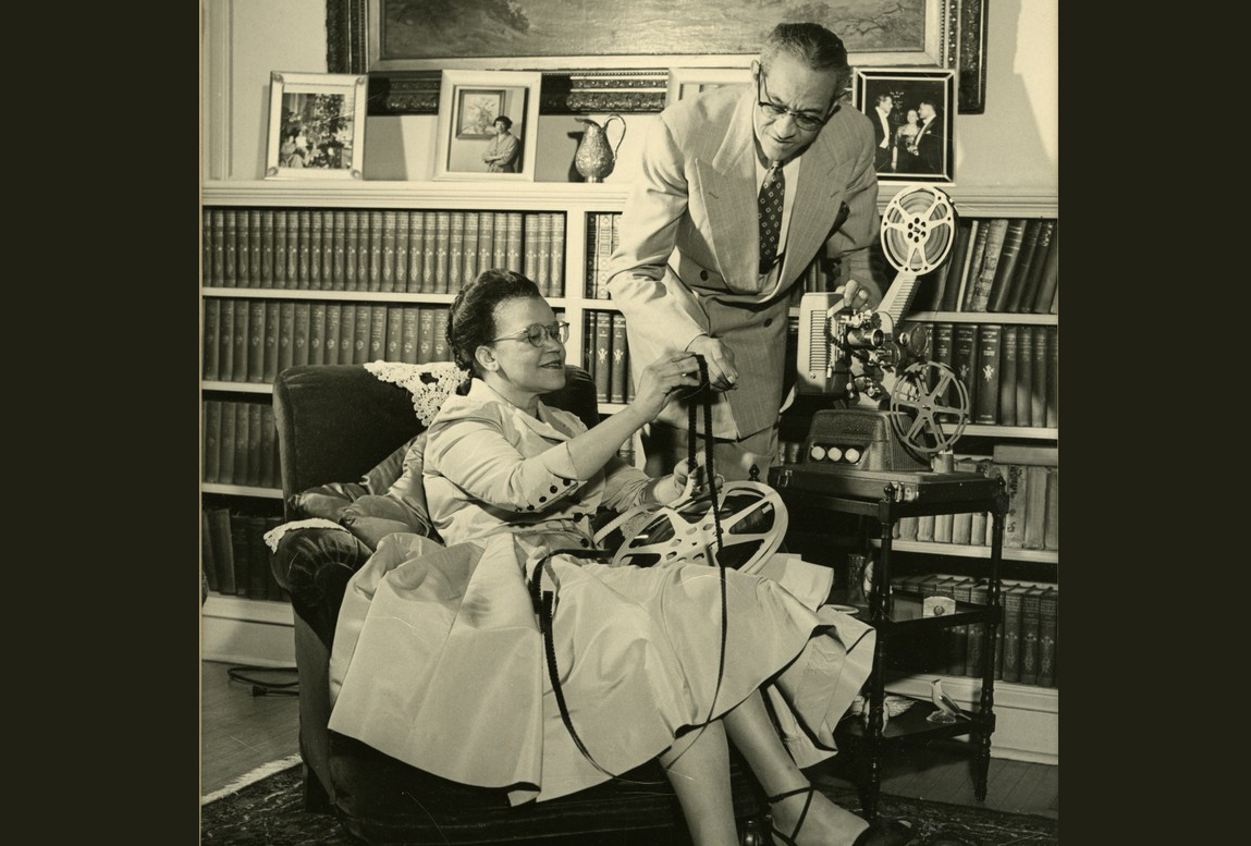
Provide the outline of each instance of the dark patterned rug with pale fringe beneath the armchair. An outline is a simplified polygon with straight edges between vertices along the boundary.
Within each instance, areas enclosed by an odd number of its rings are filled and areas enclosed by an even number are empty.
[[[279,763],[286,763],[283,761]],[[205,797],[200,810],[201,843],[223,846],[360,846],[332,815],[303,807],[300,767],[250,773],[230,787]],[[836,787],[826,793],[837,803],[857,808],[854,791]],[[927,802],[883,795],[881,813],[909,820],[918,837],[914,846],[1058,846],[1060,823],[1042,816],[1005,813],[966,805]],[[614,843],[623,841],[615,838]],[[590,846],[589,843],[587,846]],[[648,841],[651,846],[651,841]]]

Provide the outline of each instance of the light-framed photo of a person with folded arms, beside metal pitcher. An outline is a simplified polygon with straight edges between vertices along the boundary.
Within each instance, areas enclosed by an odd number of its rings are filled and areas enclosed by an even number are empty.
[[[538,71],[444,70],[435,179],[533,181]]]

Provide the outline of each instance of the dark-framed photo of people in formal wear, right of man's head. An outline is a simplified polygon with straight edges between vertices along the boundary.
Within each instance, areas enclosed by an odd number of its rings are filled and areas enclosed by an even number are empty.
[[[868,116],[881,181],[956,181],[956,71],[856,71],[852,105]]]

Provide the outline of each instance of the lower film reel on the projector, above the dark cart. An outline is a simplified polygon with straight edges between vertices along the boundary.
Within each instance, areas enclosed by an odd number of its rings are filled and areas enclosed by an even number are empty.
[[[899,443],[933,456],[951,449],[968,424],[968,389],[941,362],[918,362],[894,380],[891,426]]]

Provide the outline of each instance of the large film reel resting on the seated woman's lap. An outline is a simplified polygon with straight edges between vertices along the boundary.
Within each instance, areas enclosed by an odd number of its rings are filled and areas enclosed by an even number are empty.
[[[727,482],[718,489],[722,546],[717,551],[717,526],[712,498],[683,499],[664,506],[637,532],[626,537],[613,557],[619,567],[667,564],[722,564],[754,573],[768,562],[786,537],[787,511],[773,488],[759,482]],[[707,549],[716,551],[709,561]]]

